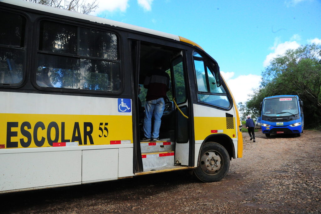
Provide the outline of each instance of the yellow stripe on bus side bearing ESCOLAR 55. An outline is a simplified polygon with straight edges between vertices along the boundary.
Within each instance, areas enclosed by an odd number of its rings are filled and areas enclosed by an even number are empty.
[[[132,116],[0,114],[0,118],[0,144],[5,148],[48,147],[56,142],[133,142]]]

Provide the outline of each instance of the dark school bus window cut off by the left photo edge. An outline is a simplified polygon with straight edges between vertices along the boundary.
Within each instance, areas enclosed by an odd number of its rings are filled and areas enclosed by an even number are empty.
[[[0,85],[19,84],[24,72],[24,32],[26,20],[18,14],[1,11]]]

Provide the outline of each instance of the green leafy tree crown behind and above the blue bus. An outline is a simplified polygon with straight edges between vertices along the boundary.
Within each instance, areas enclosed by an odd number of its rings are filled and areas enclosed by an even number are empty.
[[[255,89],[247,108],[259,111],[263,98],[299,95],[304,103],[305,127],[321,123],[321,45],[287,50],[262,71],[260,88]]]

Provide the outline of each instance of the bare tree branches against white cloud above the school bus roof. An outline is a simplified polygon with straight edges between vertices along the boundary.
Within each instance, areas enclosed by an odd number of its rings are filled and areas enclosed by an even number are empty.
[[[86,0],[25,0],[28,2],[34,2],[40,5],[48,5],[65,10],[70,10],[82,14],[90,14],[98,8],[97,0],[92,3],[87,3]]]

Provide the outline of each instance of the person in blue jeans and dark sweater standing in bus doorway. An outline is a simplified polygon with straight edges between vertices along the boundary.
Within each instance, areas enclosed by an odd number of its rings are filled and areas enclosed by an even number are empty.
[[[166,92],[170,88],[169,75],[162,70],[162,61],[154,61],[154,70],[144,80],[144,88],[147,88],[144,118],[144,137],[141,142],[160,141],[159,130],[161,116],[165,108]],[[154,127],[152,130],[152,116],[154,115]]]

